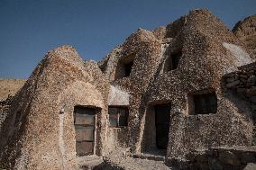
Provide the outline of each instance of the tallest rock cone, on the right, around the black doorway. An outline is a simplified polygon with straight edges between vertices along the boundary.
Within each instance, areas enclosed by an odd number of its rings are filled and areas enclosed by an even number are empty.
[[[167,46],[167,52],[181,49],[177,69],[161,72],[160,66],[167,59],[162,58],[142,98],[145,103],[140,110],[142,151],[149,144],[145,131],[154,126],[153,123],[148,125],[150,121],[146,119],[147,114],[151,114],[147,111],[151,103],[171,103],[172,106],[167,157],[185,157],[196,148],[250,146],[252,125],[246,113],[251,114],[251,110],[237,105],[239,101],[232,101],[221,89],[222,76],[251,63],[250,56],[233,32],[224,28],[224,24],[211,13],[198,10],[185,18],[185,21],[181,18],[185,22],[180,24],[181,31],[172,35]],[[217,112],[189,115],[187,96],[204,91],[215,92]]]

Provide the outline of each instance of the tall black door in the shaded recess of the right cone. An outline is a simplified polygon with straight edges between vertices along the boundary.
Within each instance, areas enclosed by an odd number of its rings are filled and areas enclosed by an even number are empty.
[[[157,148],[166,149],[169,141],[170,104],[155,106],[155,126]]]

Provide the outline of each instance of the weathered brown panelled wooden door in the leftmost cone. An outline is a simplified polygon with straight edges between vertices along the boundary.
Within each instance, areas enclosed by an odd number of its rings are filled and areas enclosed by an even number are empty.
[[[94,154],[96,109],[75,107],[76,151],[78,156]]]

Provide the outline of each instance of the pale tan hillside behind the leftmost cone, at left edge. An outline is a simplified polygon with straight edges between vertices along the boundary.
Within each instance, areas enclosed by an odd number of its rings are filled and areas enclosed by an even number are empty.
[[[0,101],[5,101],[8,95],[14,96],[25,82],[24,79],[0,79]]]

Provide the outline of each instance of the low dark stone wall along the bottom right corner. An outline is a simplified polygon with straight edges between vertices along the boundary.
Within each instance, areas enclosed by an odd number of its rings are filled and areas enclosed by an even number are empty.
[[[190,169],[233,169],[240,170],[256,162],[256,148],[209,148],[197,150],[187,155],[187,165]]]

